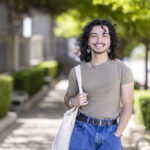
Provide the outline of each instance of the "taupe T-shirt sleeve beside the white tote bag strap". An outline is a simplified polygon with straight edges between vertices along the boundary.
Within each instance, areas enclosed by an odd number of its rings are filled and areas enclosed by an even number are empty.
[[[79,90],[78,90],[78,84],[77,84],[77,79],[76,79],[76,74],[75,74],[75,68],[72,68],[68,76],[67,93],[69,95],[75,96],[77,95],[78,92]]]

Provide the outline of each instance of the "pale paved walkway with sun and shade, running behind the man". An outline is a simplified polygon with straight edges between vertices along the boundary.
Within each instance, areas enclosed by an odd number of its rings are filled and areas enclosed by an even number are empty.
[[[66,88],[67,81],[62,80],[28,112],[19,114],[17,122],[0,135],[0,150],[50,150],[65,111]],[[128,136],[126,129],[124,150],[132,150]]]

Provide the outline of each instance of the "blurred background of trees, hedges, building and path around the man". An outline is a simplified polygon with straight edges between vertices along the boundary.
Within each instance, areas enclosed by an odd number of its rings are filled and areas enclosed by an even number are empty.
[[[50,149],[80,63],[76,38],[96,18],[116,24],[135,79],[133,120],[150,143],[150,0],[0,0],[0,18],[0,150]]]

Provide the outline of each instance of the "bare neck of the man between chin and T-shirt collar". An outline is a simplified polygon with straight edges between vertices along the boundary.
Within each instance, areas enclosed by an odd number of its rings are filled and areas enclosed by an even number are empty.
[[[91,63],[93,65],[102,64],[102,63],[104,63],[105,61],[107,61],[109,59],[108,53],[91,54],[91,56],[92,56]]]

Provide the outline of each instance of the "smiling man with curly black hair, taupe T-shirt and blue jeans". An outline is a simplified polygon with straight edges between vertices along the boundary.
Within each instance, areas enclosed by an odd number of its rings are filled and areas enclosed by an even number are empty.
[[[107,20],[94,20],[83,29],[78,45],[85,93],[78,94],[72,68],[64,99],[68,107],[80,108],[69,150],[122,150],[121,136],[132,113],[134,79],[130,68],[116,58],[115,28]]]

